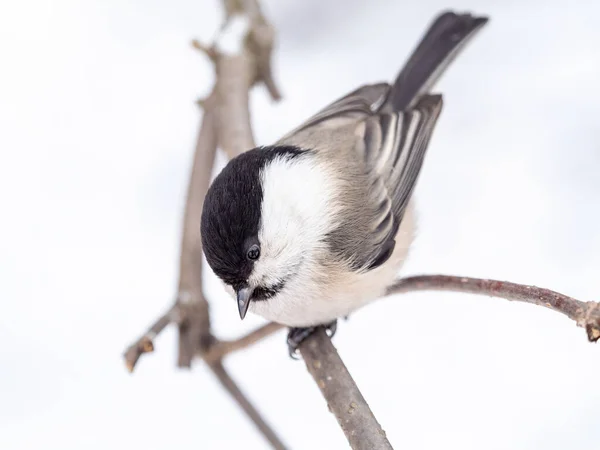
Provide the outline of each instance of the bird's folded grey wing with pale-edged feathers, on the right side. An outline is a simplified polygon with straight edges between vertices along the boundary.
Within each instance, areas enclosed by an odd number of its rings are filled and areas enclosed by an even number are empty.
[[[360,220],[332,236],[334,250],[354,270],[374,269],[391,256],[441,109],[440,95],[423,95],[407,111],[373,114],[357,124],[355,148],[368,188],[361,186]]]

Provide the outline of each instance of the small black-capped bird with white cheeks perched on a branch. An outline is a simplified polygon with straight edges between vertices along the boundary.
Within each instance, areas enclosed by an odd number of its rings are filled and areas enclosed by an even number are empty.
[[[415,236],[412,193],[442,111],[431,89],[488,17],[443,11],[393,83],[366,84],[231,159],[204,199],[208,265],[248,311],[318,327],[385,295]]]

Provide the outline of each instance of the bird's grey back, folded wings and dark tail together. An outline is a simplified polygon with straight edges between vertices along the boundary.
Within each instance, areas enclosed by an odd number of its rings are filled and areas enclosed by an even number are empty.
[[[486,22],[469,14],[440,14],[392,86],[360,87],[279,141],[315,150],[337,164],[346,214],[327,240],[352,269],[371,270],[391,256],[442,109],[441,95],[429,89]]]

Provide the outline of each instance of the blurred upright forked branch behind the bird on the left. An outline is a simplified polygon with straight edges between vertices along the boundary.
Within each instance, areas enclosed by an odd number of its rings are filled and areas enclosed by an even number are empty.
[[[202,243],[200,219],[204,197],[211,180],[217,146],[230,157],[254,147],[250,126],[249,91],[264,81],[273,98],[279,91],[270,73],[274,32],[256,0],[224,0],[226,20],[213,46],[198,41],[192,45],[215,65],[216,82],[208,98],[199,101],[204,109],[194,153],[183,219],[179,289],[177,301],[144,335],[125,351],[125,363],[133,371],[140,356],[153,351],[153,339],[169,324],[179,327],[179,367],[191,367],[202,358],[223,387],[275,449],[285,446],[244,396],[223,366],[231,352],[247,348],[281,328],[264,327],[235,341],[219,341],[211,332],[209,307],[202,286]]]

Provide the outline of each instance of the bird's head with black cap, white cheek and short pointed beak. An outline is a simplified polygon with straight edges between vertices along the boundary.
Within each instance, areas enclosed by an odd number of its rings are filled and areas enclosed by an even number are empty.
[[[260,147],[232,159],[209,188],[202,247],[237,293],[242,319],[252,302],[277,301],[318,271],[331,228],[331,177],[322,172],[310,151]]]

